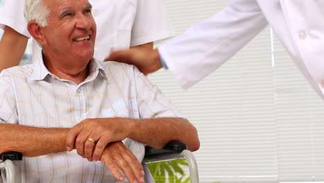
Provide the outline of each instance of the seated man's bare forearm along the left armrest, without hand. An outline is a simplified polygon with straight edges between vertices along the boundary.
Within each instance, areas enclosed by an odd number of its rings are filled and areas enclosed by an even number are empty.
[[[35,128],[0,124],[0,153],[17,151],[26,157],[66,151],[69,128]]]

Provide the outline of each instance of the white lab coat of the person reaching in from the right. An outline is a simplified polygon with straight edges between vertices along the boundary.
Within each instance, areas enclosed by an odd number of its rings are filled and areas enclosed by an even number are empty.
[[[215,71],[268,24],[318,94],[324,86],[323,0],[233,0],[159,48],[187,89]]]

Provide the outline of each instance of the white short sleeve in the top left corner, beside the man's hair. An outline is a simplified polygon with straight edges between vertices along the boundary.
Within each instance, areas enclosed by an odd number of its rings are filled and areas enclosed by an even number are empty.
[[[27,21],[24,17],[24,0],[6,0],[0,10],[0,28],[10,26],[18,33],[30,38],[27,30]]]

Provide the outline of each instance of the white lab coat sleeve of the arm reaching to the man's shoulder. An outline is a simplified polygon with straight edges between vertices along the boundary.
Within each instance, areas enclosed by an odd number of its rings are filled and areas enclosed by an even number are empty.
[[[183,89],[188,89],[247,44],[267,26],[257,1],[235,0],[210,19],[159,47]]]

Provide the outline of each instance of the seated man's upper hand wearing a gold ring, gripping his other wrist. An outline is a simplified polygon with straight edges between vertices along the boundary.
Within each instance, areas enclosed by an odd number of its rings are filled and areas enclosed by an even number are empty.
[[[99,161],[107,144],[127,138],[131,129],[132,121],[124,118],[85,119],[69,131],[66,150],[76,148],[90,162]]]

